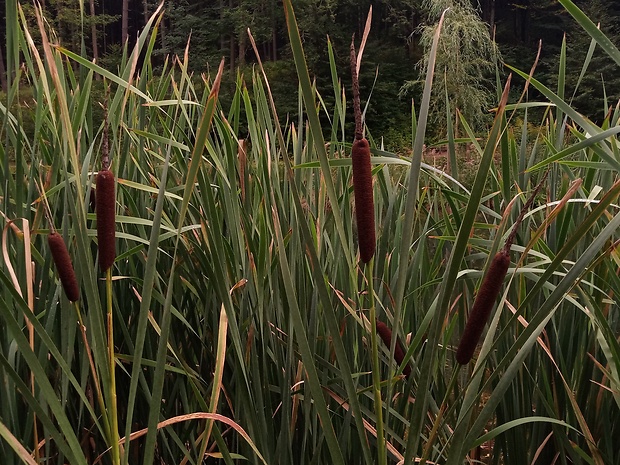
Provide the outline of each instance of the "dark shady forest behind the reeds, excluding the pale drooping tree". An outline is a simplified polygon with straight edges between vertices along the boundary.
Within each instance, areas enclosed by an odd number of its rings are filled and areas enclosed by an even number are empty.
[[[131,45],[158,4],[153,0],[89,0],[84,2],[82,15],[76,1],[43,0],[41,3],[63,46],[96,60],[112,72],[120,63],[122,44],[129,40]],[[424,47],[420,39],[423,28],[437,21],[438,17],[432,14],[432,10],[437,10],[441,3],[441,0],[295,2],[308,66],[316,78],[319,93],[326,100],[333,99],[331,91],[322,92],[331,89],[325,47],[327,37],[334,45],[339,68],[346,70],[351,36],[354,33],[361,36],[366,14],[372,5],[373,32],[366,48],[360,85],[362,96],[372,95],[372,105],[365,114],[366,123],[375,135],[383,138],[389,150],[402,151],[410,145],[411,100],[419,101],[422,90],[418,79]],[[467,1],[464,4],[469,6]],[[600,19],[601,29],[618,43],[620,1],[577,1],[576,4],[590,17],[597,21]],[[165,8],[161,33],[153,54],[155,67],[163,66],[166,57],[182,56],[191,37],[189,66],[196,76],[208,72],[221,57],[226,58],[228,73],[220,93],[220,98],[226,102],[227,97],[234,93],[237,71],[243,72],[257,61],[247,34],[249,28],[258,43],[261,58],[266,62],[268,79],[278,107],[283,115],[296,117],[297,75],[278,0],[168,0]],[[471,8],[480,20],[478,27],[488,28],[489,37],[495,40],[500,62],[528,70],[536,58],[539,44],[542,44],[536,77],[551,87],[556,80],[560,47],[566,34],[566,82],[569,88],[575,84],[590,38],[557,1],[473,0]],[[1,0],[0,11],[4,10],[5,0]],[[34,25],[34,14],[32,20]],[[4,22],[1,22],[0,43],[6,46],[5,29]],[[36,30],[36,27],[32,29]],[[453,52],[456,54],[458,50]],[[0,77],[4,92],[7,85],[5,57],[6,50],[0,50]],[[487,60],[483,56],[461,56],[459,59]],[[478,83],[486,86],[490,93],[495,88],[495,70],[491,68],[492,72],[487,76],[491,79]],[[616,89],[620,89],[620,76],[613,69],[612,60],[598,49],[579,94],[574,96],[574,107],[594,121],[604,117],[604,98],[614,101],[619,96]],[[499,70],[503,72],[501,65]],[[196,84],[200,85],[199,79],[196,79]],[[94,92],[102,93],[103,86],[95,85]],[[536,97],[532,95],[532,98]],[[471,96],[467,98],[472,101]],[[28,95],[22,94],[20,100],[27,102],[27,99]],[[482,112],[488,109],[484,102],[479,107]],[[468,116],[471,118],[471,115]],[[440,124],[434,136],[440,138],[442,133],[445,134]]]

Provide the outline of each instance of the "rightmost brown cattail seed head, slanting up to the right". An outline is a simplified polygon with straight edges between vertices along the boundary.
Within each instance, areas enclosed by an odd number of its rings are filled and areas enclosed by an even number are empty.
[[[502,289],[502,283],[508,272],[510,265],[510,253],[507,250],[498,252],[489,270],[482,280],[478,294],[474,299],[474,305],[469,312],[465,331],[461,336],[461,342],[456,350],[456,361],[461,365],[466,365],[474,355],[474,350],[478,345],[482,330],[486,325],[497,296]]]

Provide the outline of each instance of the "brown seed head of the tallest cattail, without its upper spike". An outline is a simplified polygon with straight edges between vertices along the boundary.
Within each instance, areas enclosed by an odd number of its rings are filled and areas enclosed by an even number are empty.
[[[375,254],[376,238],[370,147],[366,139],[356,139],[353,142],[351,163],[360,259],[368,263]]]

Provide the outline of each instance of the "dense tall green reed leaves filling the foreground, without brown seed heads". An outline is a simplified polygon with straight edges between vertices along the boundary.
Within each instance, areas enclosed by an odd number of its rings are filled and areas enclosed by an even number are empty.
[[[292,121],[278,114],[260,63],[237,76],[225,108],[222,67],[192,76],[189,46],[156,73],[160,10],[114,74],[50,43],[42,18],[34,43],[9,3],[3,464],[620,464],[620,110],[602,109],[600,126],[573,110],[564,60],[555,91],[516,69],[498,86],[488,134],[468,133],[473,183],[456,169],[450,133],[450,172],[424,163],[429,61],[424,98],[412,106],[412,157],[382,150],[366,128],[377,244],[364,272],[351,221],[351,91],[339,79],[347,70],[336,69],[328,43],[335,104],[325,106],[290,1],[300,86]],[[615,53],[562,3],[593,47]],[[545,100],[508,102],[509,88],[526,81]],[[26,85],[31,133],[13,110]],[[89,209],[101,105],[117,180],[108,279]],[[542,108],[535,133],[533,108]],[[461,367],[456,344],[485,269],[547,169],[486,335]],[[52,266],[34,181],[75,267],[75,304]],[[391,347],[371,344],[371,313],[396,335]],[[401,366],[397,340],[408,341]]]

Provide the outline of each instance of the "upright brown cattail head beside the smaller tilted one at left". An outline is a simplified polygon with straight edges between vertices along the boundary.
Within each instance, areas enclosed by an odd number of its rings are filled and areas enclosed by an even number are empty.
[[[116,198],[114,196],[114,174],[104,169],[96,179],[97,243],[99,267],[107,271],[116,258]]]

